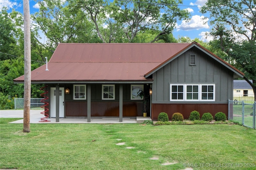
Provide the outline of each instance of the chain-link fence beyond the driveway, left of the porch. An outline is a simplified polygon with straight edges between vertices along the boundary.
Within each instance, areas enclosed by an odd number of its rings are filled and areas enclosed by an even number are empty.
[[[37,108],[44,103],[40,102],[44,98],[30,98],[30,108]],[[14,98],[14,109],[24,109],[24,98]]]

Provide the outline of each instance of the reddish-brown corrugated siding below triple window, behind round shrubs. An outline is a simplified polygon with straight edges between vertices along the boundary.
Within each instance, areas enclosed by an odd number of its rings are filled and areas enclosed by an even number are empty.
[[[173,113],[181,113],[184,119],[188,119],[191,111],[199,111],[200,118],[206,112],[214,117],[219,111],[228,117],[228,104],[152,104],[152,120],[157,120],[159,113],[166,112],[169,119],[172,119]]]

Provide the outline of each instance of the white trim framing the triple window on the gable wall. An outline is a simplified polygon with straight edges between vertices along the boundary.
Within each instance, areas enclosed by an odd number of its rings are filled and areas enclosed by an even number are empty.
[[[172,100],[172,86],[183,86],[183,100]],[[198,86],[198,100],[187,100],[187,86]],[[203,100],[202,99],[202,86],[213,86],[213,99]],[[208,92],[207,92],[208,93]],[[170,84],[170,101],[188,101],[188,102],[215,102],[215,84]]]

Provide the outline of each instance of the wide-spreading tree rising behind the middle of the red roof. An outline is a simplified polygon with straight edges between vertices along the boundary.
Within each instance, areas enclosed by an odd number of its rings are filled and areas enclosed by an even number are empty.
[[[135,39],[136,35],[148,30],[157,33],[149,42],[159,40],[170,42],[168,35],[172,33],[176,21],[189,19],[188,11],[180,10],[176,6],[182,3],[181,0],[114,0],[111,3],[105,0],[70,0],[69,2],[78,4],[76,8],[82,8],[88,13],[103,43],[138,42],[138,39]]]

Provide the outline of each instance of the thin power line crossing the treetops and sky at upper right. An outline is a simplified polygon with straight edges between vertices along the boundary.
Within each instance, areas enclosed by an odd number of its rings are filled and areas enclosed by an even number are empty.
[[[242,10],[242,9],[231,9],[231,8],[214,8],[214,7],[206,7],[206,6],[189,6],[189,5],[178,5],[178,4],[165,4],[165,3],[157,3],[157,2],[141,2],[141,1],[132,1],[132,0],[118,0],[124,2],[136,2],[136,3],[145,3],[145,4],[157,4],[157,5],[166,5],[166,6],[184,6],[191,8],[208,8],[208,9],[216,9],[216,10],[235,10],[235,11],[246,11],[246,12],[256,12],[255,10]]]

